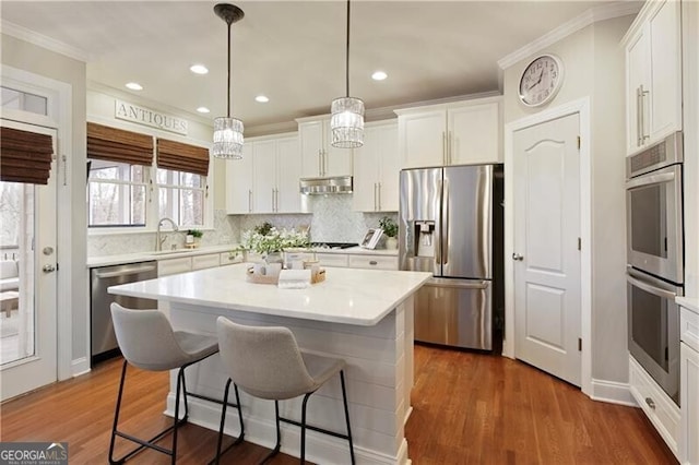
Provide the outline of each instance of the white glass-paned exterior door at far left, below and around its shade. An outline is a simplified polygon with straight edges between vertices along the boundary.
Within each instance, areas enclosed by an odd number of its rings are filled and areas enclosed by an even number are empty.
[[[49,134],[56,153],[52,129],[8,120],[0,126]],[[54,162],[47,186],[0,182],[3,285],[9,269],[17,272],[16,290],[5,286],[1,293],[0,401],[57,380],[57,177]]]

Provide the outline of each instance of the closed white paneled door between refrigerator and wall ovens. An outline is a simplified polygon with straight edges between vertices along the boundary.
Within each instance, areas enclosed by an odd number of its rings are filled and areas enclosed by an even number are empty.
[[[514,132],[514,356],[580,385],[578,114]]]

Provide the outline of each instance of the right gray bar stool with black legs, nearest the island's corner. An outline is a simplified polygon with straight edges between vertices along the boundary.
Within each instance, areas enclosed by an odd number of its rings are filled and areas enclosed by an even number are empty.
[[[216,320],[221,360],[228,374],[224,402],[227,401],[228,389],[234,383],[237,388],[259,398],[274,401],[276,416],[276,445],[262,463],[276,455],[281,448],[280,421],[296,425],[301,428],[300,463],[306,462],[306,429],[322,432],[350,442],[350,457],[354,458],[352,429],[350,427],[350,410],[347,409],[347,394],[345,391],[345,361],[339,358],[323,357],[301,351],[296,338],[288,327],[245,326],[218,317]],[[306,425],[306,405],[308,397],[319,390],[333,375],[340,373],[342,400],[344,403],[347,433],[342,434],[315,426]],[[280,417],[279,401],[304,395],[301,404],[301,420],[296,421]],[[224,410],[221,416],[218,443],[214,463],[221,458],[223,429],[226,420]],[[225,451],[224,451],[225,452]]]

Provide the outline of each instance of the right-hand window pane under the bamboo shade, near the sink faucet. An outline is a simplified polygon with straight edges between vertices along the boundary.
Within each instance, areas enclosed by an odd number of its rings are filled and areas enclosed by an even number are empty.
[[[157,169],[159,217],[181,226],[202,226],[206,199],[206,177],[186,171]]]

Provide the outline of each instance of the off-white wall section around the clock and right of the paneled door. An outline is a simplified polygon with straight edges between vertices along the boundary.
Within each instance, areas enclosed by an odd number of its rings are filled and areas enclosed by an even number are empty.
[[[592,378],[628,381],[626,331],[626,222],[624,191],[625,59],[619,40],[633,16],[597,22],[505,70],[505,123],[589,97],[592,176]],[[543,108],[519,103],[520,76],[542,52],[561,58],[564,85]]]

